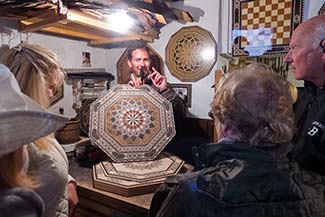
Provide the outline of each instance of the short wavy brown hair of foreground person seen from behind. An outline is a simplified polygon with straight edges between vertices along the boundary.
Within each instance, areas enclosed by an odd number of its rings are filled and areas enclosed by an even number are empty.
[[[259,63],[231,71],[220,81],[211,103],[216,121],[250,146],[288,143],[294,118],[288,82]]]

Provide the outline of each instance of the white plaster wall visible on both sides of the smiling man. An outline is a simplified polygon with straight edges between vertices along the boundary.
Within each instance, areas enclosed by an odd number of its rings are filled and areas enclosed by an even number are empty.
[[[177,3],[176,3],[177,4]],[[212,37],[217,41],[218,33],[218,17],[219,12],[219,1],[215,0],[187,0],[183,2],[185,10],[187,7],[189,9],[196,8],[195,20],[198,22],[193,22],[184,25],[184,23],[173,22],[166,25],[161,29],[160,38],[156,39],[154,43],[149,45],[156,50],[157,53],[161,55],[163,60],[165,60],[165,47],[169,41],[169,38],[184,26],[199,26],[209,31]],[[7,26],[7,21],[3,21],[0,24]],[[10,25],[9,25],[10,26]],[[17,28],[16,28],[17,29]],[[125,50],[123,48],[94,48],[87,45],[86,42],[66,39],[62,37],[55,37],[49,35],[43,35],[38,33],[32,34],[20,34],[13,29],[13,33],[8,36],[9,39],[4,37],[4,40],[0,41],[0,46],[2,44],[9,44],[10,46],[15,46],[20,43],[21,40],[27,40],[29,43],[39,44],[41,46],[52,49],[56,52],[62,62],[63,68],[82,68],[82,54],[84,52],[89,52],[91,54],[91,67],[92,68],[105,68],[107,72],[112,73],[115,78],[116,76],[116,63],[118,62],[120,56]],[[189,108],[189,116],[197,118],[208,118],[209,104],[213,97],[213,88],[211,86],[214,83],[214,71],[217,67],[217,63],[211,68],[210,73],[200,79],[197,82],[186,82],[187,84],[192,84],[192,103]],[[170,83],[181,84],[180,80],[175,78],[169,72],[166,64],[164,65],[164,72]],[[116,84],[114,81],[112,85]],[[58,112],[60,107],[64,108],[65,114],[74,117],[75,111],[72,109],[72,88],[70,85],[65,84],[64,86],[64,97],[59,100],[52,108],[54,112]]]

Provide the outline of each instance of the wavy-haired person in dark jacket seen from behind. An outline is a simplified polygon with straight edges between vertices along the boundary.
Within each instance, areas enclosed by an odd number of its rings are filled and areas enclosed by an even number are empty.
[[[220,140],[197,172],[166,180],[149,216],[323,217],[324,179],[286,154],[294,117],[288,82],[262,64],[228,72],[211,103]]]

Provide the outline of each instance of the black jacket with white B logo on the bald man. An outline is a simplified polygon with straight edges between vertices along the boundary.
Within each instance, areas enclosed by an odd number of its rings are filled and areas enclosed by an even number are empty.
[[[294,105],[296,135],[289,158],[325,176],[325,89],[306,81]]]

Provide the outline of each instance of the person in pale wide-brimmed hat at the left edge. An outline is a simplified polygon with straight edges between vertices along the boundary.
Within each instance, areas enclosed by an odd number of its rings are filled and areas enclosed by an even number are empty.
[[[44,204],[33,191],[40,184],[22,168],[23,146],[59,129],[68,118],[47,113],[22,94],[13,74],[0,64],[0,215],[41,217]],[[32,126],[32,127],[31,127]]]

